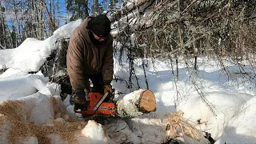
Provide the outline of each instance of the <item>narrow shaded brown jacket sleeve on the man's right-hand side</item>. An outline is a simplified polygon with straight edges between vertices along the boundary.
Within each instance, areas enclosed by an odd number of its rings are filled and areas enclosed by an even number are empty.
[[[103,66],[102,76],[104,82],[111,82],[114,74],[114,60],[113,60],[113,38],[110,36],[110,42],[106,48]]]

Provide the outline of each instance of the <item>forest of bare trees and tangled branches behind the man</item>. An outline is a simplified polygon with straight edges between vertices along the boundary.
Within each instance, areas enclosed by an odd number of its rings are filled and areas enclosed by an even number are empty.
[[[0,7],[0,49],[16,48],[26,38],[49,38],[54,30],[68,22],[107,13],[112,22],[114,54],[119,55],[120,63],[124,54],[129,60],[128,88],[141,87],[134,66],[136,58],[152,58],[153,63],[156,58],[169,61],[174,82],[180,79],[181,59],[186,67],[197,70],[197,59],[209,58],[217,62],[229,81],[242,76],[246,79],[243,82],[256,83],[255,0],[1,0]],[[68,78],[53,76],[66,69],[62,65],[66,65],[68,41],[58,41],[64,42],[61,45],[64,49],[56,48],[55,55],[42,66],[46,69],[43,73],[50,73],[46,75],[53,82],[69,83]],[[59,62],[50,64],[50,59]],[[238,69],[231,69],[226,62]],[[52,69],[53,66],[58,68]],[[146,66],[147,62],[142,61],[143,70]],[[6,69],[2,66],[1,70]],[[146,77],[145,73],[149,89]],[[114,79],[123,80],[116,76]],[[132,79],[137,82],[132,83]]]

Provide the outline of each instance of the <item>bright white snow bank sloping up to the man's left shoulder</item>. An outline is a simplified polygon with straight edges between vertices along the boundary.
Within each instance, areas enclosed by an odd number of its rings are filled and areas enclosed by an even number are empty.
[[[38,71],[54,50],[54,42],[58,38],[70,38],[70,34],[81,22],[82,20],[78,19],[58,28],[58,30],[54,31],[54,35],[44,41],[36,38],[26,38],[15,49],[0,50],[0,65],[21,70],[22,72]]]

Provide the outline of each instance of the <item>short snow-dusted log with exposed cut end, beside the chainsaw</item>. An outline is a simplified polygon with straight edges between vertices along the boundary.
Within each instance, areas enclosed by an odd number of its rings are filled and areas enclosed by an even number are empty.
[[[156,110],[155,97],[150,90],[136,90],[126,94],[117,102],[117,116],[121,118],[137,117]]]

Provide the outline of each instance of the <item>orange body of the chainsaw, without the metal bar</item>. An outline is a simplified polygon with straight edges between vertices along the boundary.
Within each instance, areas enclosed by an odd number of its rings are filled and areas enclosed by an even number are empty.
[[[89,93],[90,102],[86,103],[86,110],[75,110],[75,113],[94,115],[94,114],[105,114],[114,116],[115,115],[115,105],[113,102],[102,102],[98,107],[98,110],[94,111],[94,106],[97,105],[99,100],[103,97],[100,93]]]

